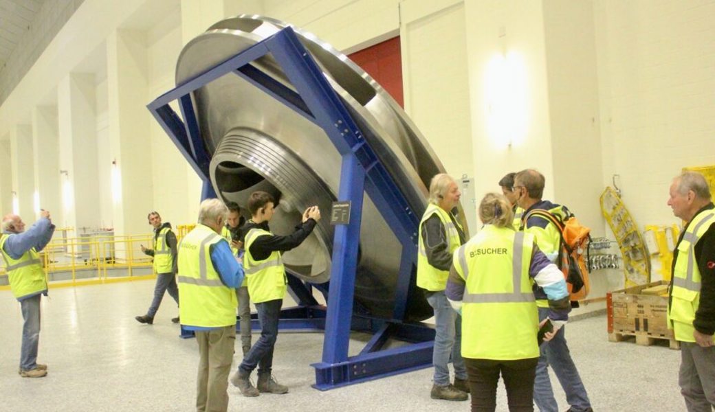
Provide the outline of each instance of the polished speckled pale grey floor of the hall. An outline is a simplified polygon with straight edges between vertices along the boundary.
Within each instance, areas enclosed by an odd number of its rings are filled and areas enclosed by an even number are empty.
[[[153,288],[153,281],[135,281],[52,289],[42,303],[39,349],[49,374],[37,379],[17,374],[21,313],[11,293],[0,291],[0,410],[195,410],[198,350],[193,339],[177,337],[179,328],[170,321],[177,316],[172,299],[164,298],[154,325],[134,321],[147,310]],[[679,351],[609,343],[606,316],[569,324],[567,337],[595,411],[685,410],[677,385]],[[354,343],[352,353],[360,350],[360,341]],[[321,351],[319,333],[281,333],[274,375],[290,393],[242,398],[230,386],[229,410],[469,411],[467,402],[430,399],[430,369],[316,391],[310,387],[315,379],[310,363],[320,360]],[[563,392],[556,378],[552,382],[565,411]],[[507,410],[501,387],[498,403],[498,411]]]

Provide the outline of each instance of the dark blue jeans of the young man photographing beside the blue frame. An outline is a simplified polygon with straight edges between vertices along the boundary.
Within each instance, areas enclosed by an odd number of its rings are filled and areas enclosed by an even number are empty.
[[[282,299],[256,303],[258,321],[261,323],[261,337],[251,346],[238,368],[244,373],[251,373],[258,366],[258,373],[270,373],[273,366],[273,348],[278,337],[278,319]]]

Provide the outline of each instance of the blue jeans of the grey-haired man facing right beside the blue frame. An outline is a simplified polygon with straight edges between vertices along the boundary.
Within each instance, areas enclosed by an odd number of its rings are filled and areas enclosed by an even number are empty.
[[[445,296],[445,291],[430,292],[427,301],[435,311],[435,346],[432,363],[435,366],[433,381],[437,386],[450,383],[450,358],[454,366],[454,375],[467,378],[467,368],[462,358],[462,316],[457,313]]]

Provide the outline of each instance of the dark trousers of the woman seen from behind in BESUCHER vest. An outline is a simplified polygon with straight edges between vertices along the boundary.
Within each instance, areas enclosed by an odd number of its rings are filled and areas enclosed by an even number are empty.
[[[511,412],[533,412],[534,376],[538,358],[518,361],[493,361],[464,358],[472,394],[472,412],[496,409],[496,387],[499,374],[504,378],[506,398]]]

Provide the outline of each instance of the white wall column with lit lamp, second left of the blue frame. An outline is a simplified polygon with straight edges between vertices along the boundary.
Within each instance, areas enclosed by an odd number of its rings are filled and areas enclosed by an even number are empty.
[[[93,74],[71,73],[57,86],[62,226],[75,236],[99,227],[94,95]]]

